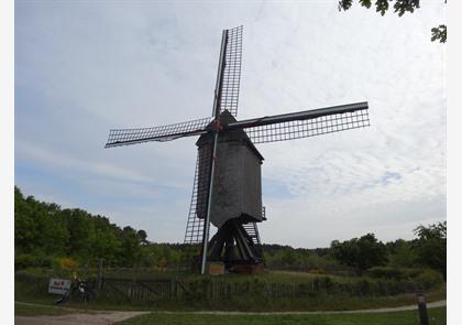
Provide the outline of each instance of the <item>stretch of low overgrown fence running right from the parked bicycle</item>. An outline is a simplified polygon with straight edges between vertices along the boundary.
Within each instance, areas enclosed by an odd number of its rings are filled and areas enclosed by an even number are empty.
[[[305,283],[266,281],[230,282],[220,280],[127,280],[103,278],[101,291],[106,296],[127,301],[156,300],[233,300],[233,299],[304,299],[329,295],[383,296],[413,293],[413,281],[360,280],[334,282],[329,277]]]

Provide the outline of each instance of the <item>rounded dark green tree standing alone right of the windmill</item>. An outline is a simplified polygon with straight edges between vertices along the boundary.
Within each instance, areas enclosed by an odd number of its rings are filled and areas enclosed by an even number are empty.
[[[334,240],[331,250],[341,264],[352,267],[359,275],[372,267],[385,266],[387,262],[386,247],[374,234],[343,242]]]

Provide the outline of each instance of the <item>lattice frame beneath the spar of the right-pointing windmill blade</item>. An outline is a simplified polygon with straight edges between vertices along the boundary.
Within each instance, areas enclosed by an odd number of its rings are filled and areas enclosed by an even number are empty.
[[[315,137],[370,126],[367,109],[322,116],[307,120],[244,128],[253,143],[265,143]]]

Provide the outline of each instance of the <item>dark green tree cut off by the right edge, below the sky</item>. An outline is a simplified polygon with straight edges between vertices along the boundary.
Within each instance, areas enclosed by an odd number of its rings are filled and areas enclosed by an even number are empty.
[[[415,241],[418,262],[440,271],[446,278],[447,268],[447,223],[437,223],[428,227],[419,226],[414,229],[418,237]]]

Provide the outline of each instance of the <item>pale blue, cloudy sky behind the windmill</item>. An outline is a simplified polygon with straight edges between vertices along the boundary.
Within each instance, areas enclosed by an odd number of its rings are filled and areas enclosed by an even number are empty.
[[[182,242],[196,138],[103,149],[109,129],[209,117],[221,31],[244,26],[238,119],[369,101],[371,127],[257,144],[264,242],[414,238],[446,219],[441,1],[15,2],[15,184]],[[212,230],[215,231],[215,230]]]

